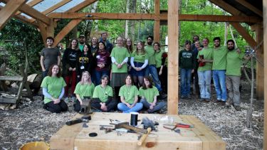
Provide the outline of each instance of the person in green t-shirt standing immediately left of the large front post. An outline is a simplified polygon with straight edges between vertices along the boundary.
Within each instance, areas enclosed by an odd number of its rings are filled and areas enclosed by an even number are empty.
[[[165,61],[167,58],[167,53],[165,50],[160,49],[160,44],[155,42],[153,44],[153,48],[155,50],[155,60],[156,60],[156,68],[157,73],[159,75],[160,83],[162,84],[162,91],[167,93],[167,66],[165,65]]]

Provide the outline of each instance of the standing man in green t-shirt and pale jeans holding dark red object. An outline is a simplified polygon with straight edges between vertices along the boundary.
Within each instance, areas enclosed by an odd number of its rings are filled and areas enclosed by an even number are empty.
[[[197,55],[199,62],[197,75],[199,75],[200,100],[202,102],[209,102],[211,100],[211,69],[213,61],[213,49],[209,48],[208,38],[204,38],[202,44],[204,48],[202,48]]]

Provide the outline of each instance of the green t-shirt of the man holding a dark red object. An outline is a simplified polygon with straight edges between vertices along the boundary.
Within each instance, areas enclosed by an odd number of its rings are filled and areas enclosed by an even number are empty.
[[[203,48],[197,54],[197,59],[199,59],[199,55],[204,55],[205,60],[213,60],[213,48]],[[199,66],[197,70],[206,71],[206,70],[211,70],[211,68],[212,68],[212,63],[205,63],[204,66],[202,67]]]

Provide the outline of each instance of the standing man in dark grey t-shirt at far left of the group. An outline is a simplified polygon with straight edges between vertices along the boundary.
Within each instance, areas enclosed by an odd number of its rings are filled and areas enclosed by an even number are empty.
[[[46,44],[48,45],[47,48],[43,48],[41,51],[41,68],[43,78],[47,76],[48,70],[53,64],[60,65],[61,63],[61,53],[58,48],[53,47],[54,39],[51,36],[46,38]]]

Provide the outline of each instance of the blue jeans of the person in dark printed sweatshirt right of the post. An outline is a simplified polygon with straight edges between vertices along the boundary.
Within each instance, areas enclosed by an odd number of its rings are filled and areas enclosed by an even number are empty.
[[[181,68],[181,95],[188,96],[190,95],[190,80],[192,69]]]

